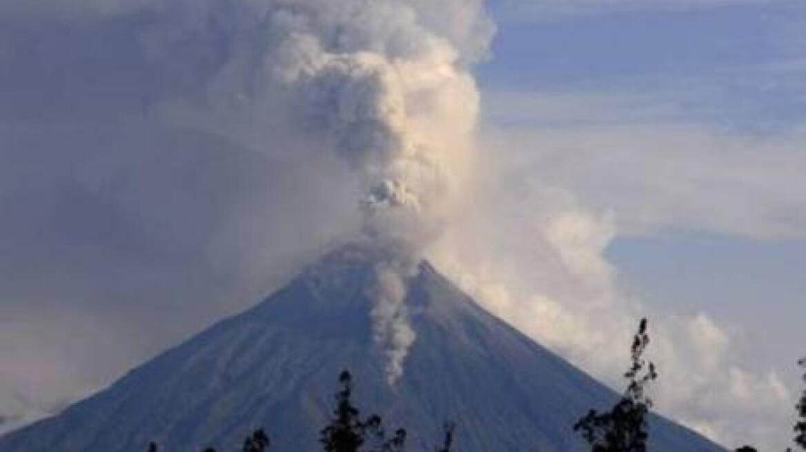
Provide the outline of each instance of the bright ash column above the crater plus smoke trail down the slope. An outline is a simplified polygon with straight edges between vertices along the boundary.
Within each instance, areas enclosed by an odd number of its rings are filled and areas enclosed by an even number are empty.
[[[479,105],[462,52],[425,12],[401,1],[276,2],[261,24],[268,86],[288,93],[305,132],[356,171],[364,228],[415,249],[467,173]],[[401,267],[378,269],[373,297],[389,384],[416,338]]]

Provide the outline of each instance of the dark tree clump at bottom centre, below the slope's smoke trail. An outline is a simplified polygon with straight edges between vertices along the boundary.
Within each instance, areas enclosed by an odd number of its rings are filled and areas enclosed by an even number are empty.
[[[359,409],[352,405],[353,384],[350,372],[339,375],[339,391],[336,392],[336,408],[330,424],[322,429],[319,442],[325,452],[359,452],[368,439],[380,444],[376,450],[396,452],[405,446],[405,429],[397,429],[393,438],[385,439],[383,420],[380,416],[362,419]]]

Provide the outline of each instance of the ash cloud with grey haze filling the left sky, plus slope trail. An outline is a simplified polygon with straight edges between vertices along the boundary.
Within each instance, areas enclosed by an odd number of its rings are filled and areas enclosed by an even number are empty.
[[[491,35],[481,0],[0,7],[0,413],[102,386],[356,230],[417,253]],[[372,314],[390,375],[413,341],[395,272]]]

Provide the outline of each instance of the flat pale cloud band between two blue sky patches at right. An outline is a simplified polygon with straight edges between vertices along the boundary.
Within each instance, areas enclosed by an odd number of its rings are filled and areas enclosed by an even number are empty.
[[[492,107],[506,112],[500,117],[524,120],[488,129],[487,146],[511,154],[521,177],[567,187],[585,206],[612,210],[620,233],[804,237],[804,131],[759,136],[683,122],[674,101],[643,116],[651,107],[642,105],[655,105],[652,97],[638,104],[634,97],[525,97],[531,115],[524,101]]]

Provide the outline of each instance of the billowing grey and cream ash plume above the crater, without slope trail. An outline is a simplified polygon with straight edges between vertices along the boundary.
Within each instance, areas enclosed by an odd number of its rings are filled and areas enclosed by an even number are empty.
[[[452,4],[442,8],[480,12],[473,2]],[[248,5],[229,13],[252,20],[231,37],[249,45],[211,84],[218,113],[258,121],[261,113],[284,115],[293,134],[313,138],[310,151],[333,154],[356,172],[370,222],[388,208],[416,222],[438,216],[467,172],[479,103],[467,72],[477,55],[456,42],[483,31],[481,18],[451,34],[429,23],[429,8],[418,2]],[[170,32],[152,36],[157,53],[165,40],[170,47]]]

